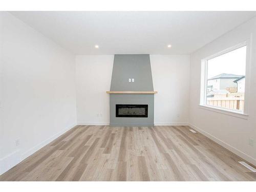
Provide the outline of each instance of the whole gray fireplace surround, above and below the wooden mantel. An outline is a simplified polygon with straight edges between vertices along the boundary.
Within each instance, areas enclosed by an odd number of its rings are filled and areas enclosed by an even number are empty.
[[[110,90],[154,91],[150,55],[115,55]],[[148,117],[116,117],[116,104],[147,104]],[[110,94],[110,125],[154,126],[154,94]]]

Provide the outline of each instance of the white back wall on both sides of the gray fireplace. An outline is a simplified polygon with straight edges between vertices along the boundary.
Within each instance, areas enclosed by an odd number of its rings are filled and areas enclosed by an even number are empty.
[[[189,56],[151,55],[155,123],[188,122]],[[78,124],[109,124],[109,95],[114,55],[76,57]]]

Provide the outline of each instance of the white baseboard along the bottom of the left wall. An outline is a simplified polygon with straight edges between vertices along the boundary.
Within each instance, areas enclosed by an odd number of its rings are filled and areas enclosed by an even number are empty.
[[[58,138],[63,133],[66,133],[67,131],[72,129],[74,126],[76,126],[76,124],[73,124],[73,125],[67,127],[66,129],[61,130],[54,136],[50,137],[49,139],[46,139],[45,141],[37,144],[36,146],[30,148],[27,152],[25,152],[23,154],[20,154],[20,151],[18,150],[18,151],[15,151],[15,152],[3,157],[2,159],[0,159],[0,175],[7,172],[7,170],[14,167],[16,164],[22,162],[24,159],[26,159],[33,153],[37,152],[38,150],[40,150],[40,148],[49,144],[51,141]]]

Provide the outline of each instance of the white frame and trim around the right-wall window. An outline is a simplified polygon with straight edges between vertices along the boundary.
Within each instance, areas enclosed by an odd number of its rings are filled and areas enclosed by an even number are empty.
[[[228,49],[225,49],[223,51],[220,51],[214,55],[211,55],[209,57],[206,57],[204,59],[201,60],[201,91],[200,91],[200,103],[199,103],[199,107],[201,109],[204,110],[210,110],[210,111],[214,111],[214,112],[218,112],[218,113],[222,113],[222,114],[226,114],[226,115],[231,115],[231,116],[235,116],[235,117],[239,117],[239,118],[244,118],[247,119],[248,118],[248,112],[249,112],[249,98],[248,96],[250,95],[249,93],[249,88],[250,88],[250,65],[251,65],[251,47],[250,47],[250,39],[246,40],[244,42],[241,42],[240,44],[237,44],[233,47],[230,47]],[[236,111],[236,110],[230,110],[230,109],[226,109],[226,108],[221,108],[219,106],[211,106],[211,105],[207,105],[207,98],[206,98],[206,91],[207,91],[207,66],[208,66],[208,60],[218,57],[220,55],[223,55],[225,53],[228,53],[230,51],[239,49],[241,47],[246,46],[246,72],[245,72],[245,98],[244,98],[244,111]]]

